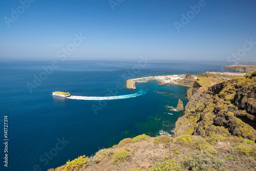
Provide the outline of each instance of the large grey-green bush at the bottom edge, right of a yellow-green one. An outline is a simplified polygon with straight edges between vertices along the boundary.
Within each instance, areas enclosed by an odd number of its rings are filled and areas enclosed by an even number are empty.
[[[182,164],[186,167],[186,169],[193,171],[210,169],[220,170],[223,161],[212,155],[209,149],[204,149],[185,157]]]

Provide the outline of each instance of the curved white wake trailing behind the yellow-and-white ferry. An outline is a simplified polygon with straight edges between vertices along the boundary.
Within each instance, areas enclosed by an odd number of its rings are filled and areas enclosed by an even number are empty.
[[[106,96],[106,97],[93,97],[93,96],[69,96],[69,99],[77,99],[77,100],[116,100],[116,99],[127,99],[132,97],[138,97],[143,94],[146,94],[145,91],[138,91],[134,94],[121,95],[121,96]]]

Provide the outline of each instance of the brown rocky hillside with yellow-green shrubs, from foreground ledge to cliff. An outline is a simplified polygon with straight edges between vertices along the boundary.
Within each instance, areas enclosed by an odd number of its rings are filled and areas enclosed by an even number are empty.
[[[49,171],[255,170],[256,72],[214,86],[209,79],[199,77],[189,89],[174,138],[126,138]]]

